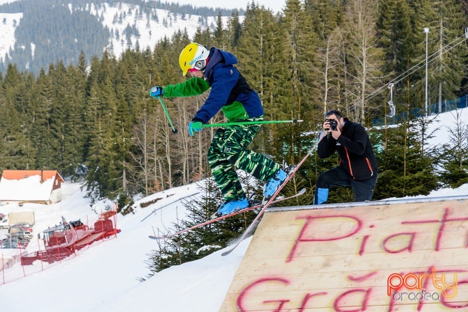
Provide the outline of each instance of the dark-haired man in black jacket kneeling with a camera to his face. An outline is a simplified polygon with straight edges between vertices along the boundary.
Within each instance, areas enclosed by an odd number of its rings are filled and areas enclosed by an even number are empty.
[[[340,162],[318,176],[313,204],[325,203],[332,186],[351,185],[354,201],[370,200],[377,182],[378,167],[366,130],[359,123],[344,118],[337,110],[325,114],[322,128],[329,133],[318,144],[318,156],[327,158],[336,151]]]

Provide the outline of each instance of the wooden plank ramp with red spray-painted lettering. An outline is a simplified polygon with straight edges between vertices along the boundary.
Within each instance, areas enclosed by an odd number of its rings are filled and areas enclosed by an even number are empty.
[[[468,311],[468,196],[269,210],[221,312]]]

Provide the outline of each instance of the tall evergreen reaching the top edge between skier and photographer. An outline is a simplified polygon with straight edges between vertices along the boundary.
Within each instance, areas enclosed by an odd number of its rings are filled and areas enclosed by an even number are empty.
[[[316,58],[315,47],[318,40],[312,29],[312,20],[308,18],[307,12],[298,0],[286,2],[280,27],[284,34],[283,39],[280,40],[280,46],[286,63],[282,68],[285,75],[280,78],[282,79],[280,92],[284,97],[279,106],[282,114],[278,117],[304,119],[304,122],[277,127],[274,137],[275,142],[278,143],[278,151],[282,152],[279,155],[283,156],[288,163],[297,163],[309,151],[307,147],[311,146],[310,137],[302,136],[302,134],[315,129],[316,110],[314,108],[316,105],[314,103],[317,103],[319,92],[312,86],[317,76],[313,61]],[[281,161],[281,159],[276,159]],[[284,193],[291,195],[299,191],[306,182],[300,179],[304,179],[301,173],[293,178],[293,183],[285,188]]]

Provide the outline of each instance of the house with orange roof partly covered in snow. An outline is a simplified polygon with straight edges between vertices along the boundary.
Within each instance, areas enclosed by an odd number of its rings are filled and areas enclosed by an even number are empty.
[[[61,200],[63,178],[57,170],[3,170],[1,205],[9,203],[53,204]]]

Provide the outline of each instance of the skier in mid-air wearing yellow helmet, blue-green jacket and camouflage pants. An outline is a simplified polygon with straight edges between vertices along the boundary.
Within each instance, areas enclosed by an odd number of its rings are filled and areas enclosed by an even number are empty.
[[[191,78],[176,85],[155,86],[152,97],[190,97],[211,88],[205,103],[188,124],[190,136],[203,129],[202,125],[222,110],[229,122],[261,121],[263,106],[258,94],[249,86],[234,64],[233,54],[192,42],[180,52],[179,65],[183,76]],[[264,182],[263,202],[267,202],[287,174],[279,164],[248,149],[260,125],[229,125],[217,129],[208,149],[208,163],[216,184],[224,195],[215,216],[234,213],[247,208],[249,202],[235,168],[239,168]]]

